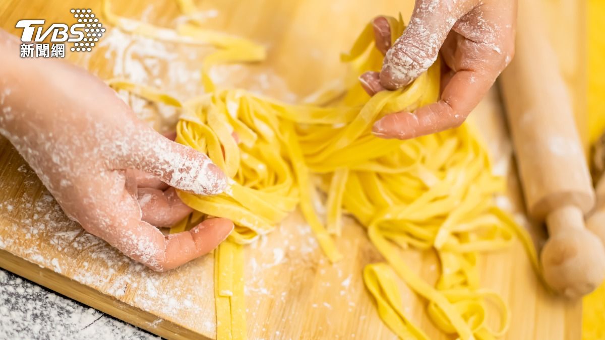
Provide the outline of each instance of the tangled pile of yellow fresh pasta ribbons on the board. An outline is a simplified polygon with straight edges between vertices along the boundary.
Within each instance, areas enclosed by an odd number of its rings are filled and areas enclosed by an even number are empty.
[[[186,102],[160,90],[113,79],[108,83],[148,100],[180,108],[178,143],[208,154],[231,178],[226,192],[203,196],[178,192],[195,210],[172,227],[181,232],[205,216],[230,218],[235,223],[229,239],[215,251],[215,298],[218,339],[246,336],[243,295],[243,245],[273,230],[297,206],[321,249],[338,261],[333,237],[342,230],[344,211],[367,228],[371,242],[386,263],[370,264],[364,283],[385,324],[402,339],[427,339],[407,319],[401,306],[397,276],[428,302],[427,313],[445,333],[460,339],[494,339],[509,325],[509,310],[502,298],[482,289],[477,254],[508,247],[515,239],[524,244],[532,264],[537,256],[524,229],[494,203],[505,182],[492,175],[488,154],[467,124],[413,140],[384,140],[371,134],[380,117],[413,111],[439,97],[439,60],[401,90],[368,96],[351,80],[344,93],[319,94],[329,105],[290,105],[244,90],[217,90],[207,76],[214,64],[256,61],[264,50],[241,38],[197,27],[195,6],[179,1],[191,20],[172,34],[165,28],[131,22],[126,30],[151,38],[217,47],[203,62],[206,93]],[[125,29],[123,18],[111,22]],[[128,19],[129,20],[129,19]],[[388,18],[393,40],[405,28],[400,18]],[[159,31],[160,30],[160,31]],[[374,48],[367,25],[342,61],[351,65],[356,79],[364,71],[377,71],[382,55]],[[327,195],[326,221],[313,209],[312,176]],[[345,194],[346,193],[346,194]],[[441,265],[439,280],[431,285],[413,272],[399,249],[436,251]],[[486,303],[494,302],[500,327],[486,324]]]

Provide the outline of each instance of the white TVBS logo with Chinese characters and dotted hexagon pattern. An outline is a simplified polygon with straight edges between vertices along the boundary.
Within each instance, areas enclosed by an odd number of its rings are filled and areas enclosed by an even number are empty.
[[[71,51],[90,52],[105,28],[90,8],[72,9],[71,13],[77,24],[52,24],[47,29],[42,19],[19,20],[15,27],[23,30],[21,57],[64,57],[66,42],[71,43]],[[43,43],[47,38],[51,44]]]

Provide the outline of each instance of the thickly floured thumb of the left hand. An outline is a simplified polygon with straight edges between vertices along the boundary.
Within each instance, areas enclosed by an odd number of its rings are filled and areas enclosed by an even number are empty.
[[[157,176],[174,188],[200,195],[220,194],[227,186],[223,171],[208,156],[148,129],[132,140],[131,152],[120,159],[124,168]]]

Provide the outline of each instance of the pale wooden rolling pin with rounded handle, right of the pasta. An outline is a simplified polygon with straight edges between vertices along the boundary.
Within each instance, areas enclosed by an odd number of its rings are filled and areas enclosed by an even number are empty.
[[[548,227],[543,276],[557,292],[577,297],[603,281],[605,247],[584,224],[595,194],[541,13],[539,0],[518,2],[516,53],[500,85],[528,213]]]

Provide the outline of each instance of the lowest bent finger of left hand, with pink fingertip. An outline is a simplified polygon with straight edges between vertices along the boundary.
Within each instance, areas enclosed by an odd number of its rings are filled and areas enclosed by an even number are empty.
[[[151,269],[168,270],[200,257],[218,246],[234,228],[229,220],[212,218],[189,231],[165,236],[141,220],[139,203],[126,191],[123,177],[117,171],[92,176],[88,183],[94,192],[81,192],[80,197],[91,206],[76,211],[77,221],[91,234]]]

